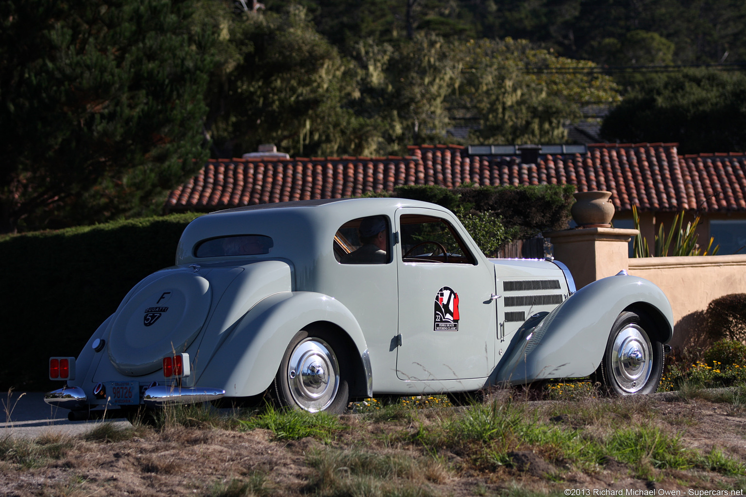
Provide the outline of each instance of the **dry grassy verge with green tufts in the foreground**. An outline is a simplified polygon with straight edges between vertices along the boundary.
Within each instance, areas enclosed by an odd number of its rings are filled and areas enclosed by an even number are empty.
[[[746,420],[736,393],[534,402],[496,392],[462,408],[400,403],[339,417],[186,409],[154,425],[0,440],[0,488],[20,497],[742,488]]]

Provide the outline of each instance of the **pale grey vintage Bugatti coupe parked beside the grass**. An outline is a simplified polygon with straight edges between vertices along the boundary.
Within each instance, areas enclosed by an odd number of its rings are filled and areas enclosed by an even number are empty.
[[[342,412],[594,373],[651,393],[671,323],[651,282],[621,271],[576,291],[560,262],[487,259],[431,203],[263,204],[192,221],[174,266],[132,288],[78,358],[50,359],[66,384],[45,400],[77,419],[268,392]]]

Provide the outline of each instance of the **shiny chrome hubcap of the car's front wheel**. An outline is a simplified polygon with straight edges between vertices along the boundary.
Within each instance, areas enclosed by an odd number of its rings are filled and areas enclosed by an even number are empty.
[[[627,326],[616,335],[611,371],[622,390],[636,393],[645,387],[653,368],[652,351],[648,335],[637,326]]]

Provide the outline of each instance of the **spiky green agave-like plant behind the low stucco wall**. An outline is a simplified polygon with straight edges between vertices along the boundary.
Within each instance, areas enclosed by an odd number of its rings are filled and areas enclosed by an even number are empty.
[[[640,219],[635,206],[632,206],[632,218],[635,221],[635,229],[639,231]],[[655,235],[655,246],[652,254],[650,247],[648,247],[648,240],[638,233],[635,237],[635,257],[715,256],[720,250],[720,245],[715,245],[715,248],[712,248],[714,238],[709,238],[709,244],[704,251],[697,243],[699,222],[700,216],[698,215],[694,221],[687,223],[686,228],[684,228],[684,211],[681,211],[674,216],[674,223],[671,225],[668,235],[665,234],[661,223],[658,234]]]

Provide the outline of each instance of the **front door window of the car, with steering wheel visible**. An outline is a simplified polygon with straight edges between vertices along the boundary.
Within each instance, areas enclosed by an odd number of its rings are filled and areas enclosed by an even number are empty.
[[[475,264],[474,256],[445,219],[407,214],[401,216],[399,224],[401,256],[404,262]]]

